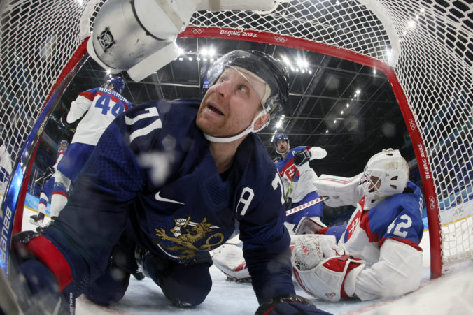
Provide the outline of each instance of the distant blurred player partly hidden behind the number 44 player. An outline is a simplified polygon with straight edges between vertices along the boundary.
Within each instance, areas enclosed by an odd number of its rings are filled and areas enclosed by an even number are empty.
[[[39,177],[35,183],[41,185],[41,193],[39,194],[38,214],[34,214],[29,217],[29,221],[36,225],[42,226],[48,203],[50,202],[52,189],[54,188],[54,174],[57,171],[57,164],[61,161],[62,156],[67,150],[69,142],[67,140],[61,140],[57,149],[57,158],[54,166],[47,168],[43,176]]]

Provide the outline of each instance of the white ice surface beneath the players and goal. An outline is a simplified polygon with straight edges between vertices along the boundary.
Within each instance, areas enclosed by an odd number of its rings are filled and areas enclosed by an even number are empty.
[[[25,208],[23,230],[34,230],[35,226],[28,222],[29,216],[34,213]],[[324,302],[311,297],[295,284],[296,293],[313,300],[318,308],[332,314],[473,314],[473,261],[446,265],[442,277],[432,280],[429,268],[428,231],[423,235],[421,247],[425,265],[421,287],[402,297],[365,302],[358,299]],[[116,305],[99,307],[80,297],[76,303],[76,314],[255,314],[258,303],[250,283],[227,281],[227,276],[215,266],[210,270],[213,279],[212,290],[204,303],[198,307],[188,309],[173,307],[151,279],[138,281],[131,277],[125,297]]]

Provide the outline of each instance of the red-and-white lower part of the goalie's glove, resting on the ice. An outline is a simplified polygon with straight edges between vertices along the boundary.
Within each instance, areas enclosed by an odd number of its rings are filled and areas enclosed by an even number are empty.
[[[365,261],[350,255],[327,258],[311,270],[293,266],[297,282],[305,291],[331,302],[355,295],[356,279],[363,268]]]

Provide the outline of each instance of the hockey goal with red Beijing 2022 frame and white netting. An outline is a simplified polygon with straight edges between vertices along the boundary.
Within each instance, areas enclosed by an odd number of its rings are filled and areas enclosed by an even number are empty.
[[[1,170],[13,196],[5,199],[2,222],[15,214],[45,110],[85,54],[103,3],[0,4],[0,139],[17,166]],[[180,36],[285,45],[386,73],[421,170],[432,277],[438,277],[444,263],[473,257],[472,15],[467,0],[276,1],[271,12],[199,11]],[[2,244],[11,229],[3,224]]]

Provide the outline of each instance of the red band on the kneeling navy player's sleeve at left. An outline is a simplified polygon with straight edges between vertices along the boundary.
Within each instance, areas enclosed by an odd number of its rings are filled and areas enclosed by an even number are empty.
[[[73,281],[71,267],[69,267],[66,258],[46,237],[43,235],[35,237],[27,244],[27,247],[54,274],[59,284],[59,291],[64,290]]]

